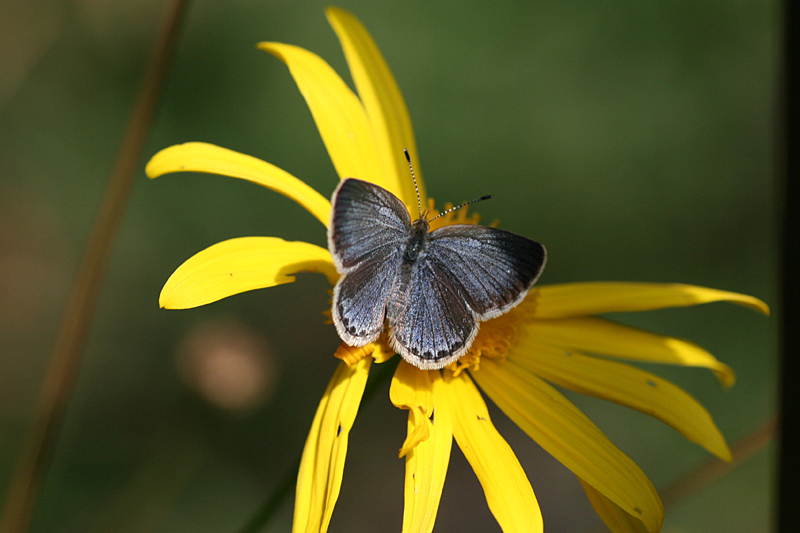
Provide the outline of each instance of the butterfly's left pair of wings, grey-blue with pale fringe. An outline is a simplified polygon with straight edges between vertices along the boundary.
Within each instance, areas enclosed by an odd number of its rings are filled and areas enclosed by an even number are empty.
[[[328,250],[341,277],[331,314],[347,344],[364,346],[380,335],[410,224],[405,205],[377,185],[348,178],[334,191]]]

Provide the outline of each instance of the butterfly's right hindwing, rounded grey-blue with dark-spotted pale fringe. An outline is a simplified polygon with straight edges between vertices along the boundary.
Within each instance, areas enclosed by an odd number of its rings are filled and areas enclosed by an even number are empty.
[[[412,365],[442,368],[461,357],[478,320],[449,271],[423,257],[402,265],[386,309],[389,344]]]

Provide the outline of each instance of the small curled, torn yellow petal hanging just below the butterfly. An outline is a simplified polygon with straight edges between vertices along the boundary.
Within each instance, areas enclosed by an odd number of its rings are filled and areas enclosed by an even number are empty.
[[[429,372],[400,361],[389,387],[389,399],[400,409],[408,409],[408,436],[400,449],[405,457],[420,442],[428,439],[433,424],[428,418],[433,413],[433,390]]]

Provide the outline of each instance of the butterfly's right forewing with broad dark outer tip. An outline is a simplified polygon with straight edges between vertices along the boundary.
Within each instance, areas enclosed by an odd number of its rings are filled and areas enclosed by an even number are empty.
[[[547,260],[544,246],[509,231],[454,224],[431,233],[426,260],[437,265],[480,320],[520,303]]]

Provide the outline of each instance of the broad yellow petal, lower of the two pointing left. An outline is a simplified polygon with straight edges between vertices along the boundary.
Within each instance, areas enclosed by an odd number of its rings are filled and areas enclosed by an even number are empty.
[[[210,246],[186,260],[161,289],[166,309],[188,309],[253,289],[294,281],[298,272],[338,278],[331,254],[307,242],[242,237]]]

